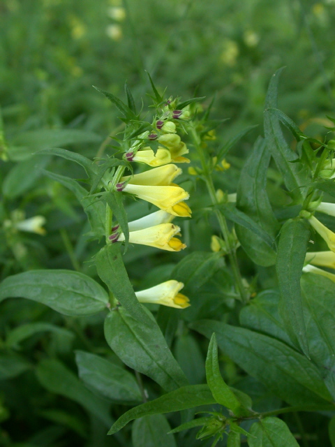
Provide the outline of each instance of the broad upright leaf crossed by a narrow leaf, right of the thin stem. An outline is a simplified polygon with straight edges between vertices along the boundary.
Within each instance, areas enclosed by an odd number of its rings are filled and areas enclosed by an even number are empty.
[[[258,223],[272,238],[276,237],[278,222],[267,196],[267,168],[271,154],[265,140],[258,138],[253,152],[244,163],[237,186],[237,207]],[[258,265],[269,267],[276,263],[276,251],[248,228],[235,224],[235,230],[246,254]]]

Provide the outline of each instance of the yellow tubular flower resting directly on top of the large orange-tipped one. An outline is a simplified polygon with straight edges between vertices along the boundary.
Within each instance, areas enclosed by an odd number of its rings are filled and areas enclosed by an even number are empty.
[[[120,182],[129,180],[128,184],[168,186],[179,174],[181,174],[181,169],[178,168],[178,166],[168,164],[160,166],[159,168],[147,170],[144,173],[135,174],[133,177],[127,175],[126,177],[122,177]]]

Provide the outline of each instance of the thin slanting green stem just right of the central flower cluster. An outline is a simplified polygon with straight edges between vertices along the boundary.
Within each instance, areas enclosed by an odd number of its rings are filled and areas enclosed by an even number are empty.
[[[242,282],[241,272],[239,271],[236,250],[230,240],[230,233],[229,233],[227,221],[226,221],[225,217],[223,216],[223,214],[220,212],[220,210],[218,210],[218,208],[217,208],[218,199],[216,198],[213,179],[211,178],[211,173],[209,172],[209,168],[208,168],[209,165],[207,163],[207,160],[205,159],[204,152],[202,150],[202,147],[200,146],[200,143],[201,143],[200,138],[199,138],[198,134],[196,133],[195,129],[191,128],[190,133],[192,135],[193,142],[195,144],[195,148],[197,149],[198,155],[200,157],[207,190],[209,192],[211,202],[215,207],[216,218],[218,219],[218,224],[220,226],[221,233],[223,235],[223,239],[225,240],[225,244],[228,247],[228,257],[230,260],[230,265],[232,267],[232,273],[234,274],[236,286],[239,291],[239,295],[241,297],[242,302],[246,303],[246,302],[248,302],[248,295],[246,293],[246,288],[244,287],[244,284]]]

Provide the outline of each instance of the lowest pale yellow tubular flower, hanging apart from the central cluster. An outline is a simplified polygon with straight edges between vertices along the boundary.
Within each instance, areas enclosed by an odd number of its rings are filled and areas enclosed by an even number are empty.
[[[144,291],[135,292],[137,300],[140,302],[151,302],[158,305],[175,307],[176,309],[185,309],[190,306],[188,298],[179,293],[184,287],[182,282],[171,279],[158,286],[147,288]]]

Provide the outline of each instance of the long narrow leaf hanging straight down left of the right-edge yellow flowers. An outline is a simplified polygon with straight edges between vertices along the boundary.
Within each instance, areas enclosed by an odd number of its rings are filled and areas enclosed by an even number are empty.
[[[284,310],[283,316],[285,317],[284,321],[287,325],[288,334],[292,342],[300,346],[308,358],[300,278],[309,236],[309,225],[303,219],[286,221],[281,228],[276,262],[281,302]]]

